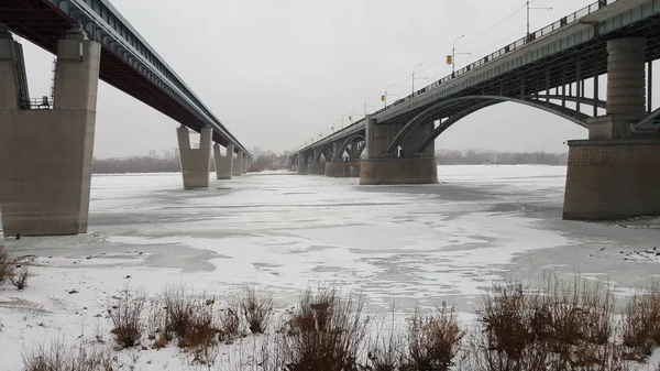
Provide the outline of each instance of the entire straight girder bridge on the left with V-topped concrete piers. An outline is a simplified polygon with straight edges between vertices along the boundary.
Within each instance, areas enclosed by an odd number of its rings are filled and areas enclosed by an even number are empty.
[[[30,96],[22,45],[14,35],[57,56],[51,96]],[[99,79],[180,123],[186,189],[208,188],[211,148],[218,179],[248,171],[250,152],[108,0],[2,0],[4,236],[87,231]],[[190,146],[190,130],[200,133],[199,148]]]

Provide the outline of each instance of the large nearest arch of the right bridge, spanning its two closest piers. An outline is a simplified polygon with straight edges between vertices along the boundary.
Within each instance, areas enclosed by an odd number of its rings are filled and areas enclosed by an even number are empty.
[[[582,101],[581,98],[576,98],[576,97],[565,97],[565,100],[568,101]],[[392,143],[389,144],[389,146],[387,148],[387,150],[385,151],[385,154],[394,154],[395,151],[399,148],[399,145],[402,144],[402,142],[404,141],[404,139],[406,139],[406,137],[408,137],[408,134],[410,134],[410,132],[413,132],[413,130],[415,128],[417,128],[418,126],[429,122],[431,120],[436,120],[438,119],[439,116],[442,114],[442,112],[444,110],[447,110],[447,108],[458,105],[458,103],[464,103],[464,102],[471,102],[473,101],[474,103],[470,107],[468,107],[466,109],[464,109],[463,111],[460,111],[459,113],[455,113],[454,116],[450,117],[444,123],[441,123],[438,128],[436,128],[433,130],[433,132],[429,135],[429,139],[431,139],[431,137],[433,137],[432,139],[435,140],[438,135],[440,135],[440,133],[442,133],[444,130],[447,130],[450,126],[452,126],[453,123],[455,123],[457,121],[459,121],[460,119],[466,117],[470,113],[473,113],[480,109],[483,109],[485,107],[488,106],[493,106],[496,103],[502,103],[502,102],[515,102],[515,103],[519,103],[519,105],[524,105],[524,106],[528,106],[528,107],[532,107],[532,108],[537,108],[540,110],[543,110],[546,112],[550,112],[553,114],[557,114],[559,117],[562,117],[569,121],[572,121],[574,123],[578,123],[579,126],[582,127],[586,127],[586,119],[590,118],[590,116],[579,112],[574,109],[571,109],[569,107],[563,107],[550,101],[541,101],[538,99],[534,99],[534,97],[528,97],[528,98],[513,98],[513,97],[501,97],[501,96],[466,96],[466,97],[459,97],[459,98],[453,98],[453,99],[448,99],[448,100],[443,100],[441,102],[438,102],[429,108],[427,108],[426,110],[421,111],[420,113],[418,113],[417,116],[415,116],[410,121],[408,121],[408,123],[406,123],[406,126],[396,134],[396,137],[394,138],[394,140],[392,141]],[[487,102],[487,103],[486,103]],[[462,116],[461,116],[462,114]],[[452,118],[454,118],[452,120]],[[446,124],[447,122],[449,122],[449,124]],[[443,128],[444,129],[441,129]],[[420,145],[417,151],[415,151],[416,153],[419,153],[419,149],[421,149],[422,151],[432,142],[427,140],[422,143],[422,145]]]

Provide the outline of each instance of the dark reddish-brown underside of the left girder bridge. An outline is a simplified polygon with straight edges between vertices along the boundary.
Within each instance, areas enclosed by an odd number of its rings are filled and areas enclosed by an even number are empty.
[[[44,0],[0,1],[0,23],[23,39],[57,54],[57,42],[74,26],[74,21],[52,3]],[[99,78],[155,110],[170,117],[186,127],[201,132],[199,118],[184,108],[174,97],[165,94],[138,69],[128,66],[118,55],[105,45],[101,50]],[[229,144],[217,132],[213,141],[223,146]]]

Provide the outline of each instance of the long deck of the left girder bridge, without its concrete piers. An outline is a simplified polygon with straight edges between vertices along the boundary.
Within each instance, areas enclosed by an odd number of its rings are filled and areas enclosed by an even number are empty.
[[[90,2],[90,1],[88,1]],[[101,13],[109,18],[109,15],[117,17],[122,22],[117,23],[116,26],[125,28],[128,37],[134,37],[134,42],[144,44],[144,53],[151,52],[151,47],[142,41],[142,37],[133,32],[133,29],[118,14],[108,14],[107,12],[116,11],[105,0],[95,0],[103,7],[92,7],[97,10],[105,9]],[[74,10],[69,10],[73,12]],[[103,14],[101,14],[103,15]],[[80,15],[82,18],[82,15]],[[30,42],[43,47],[44,50],[56,54],[57,53],[57,41],[62,39],[67,30],[74,24],[78,23],[70,14],[59,9],[48,0],[2,0],[0,1],[0,23],[6,24],[12,32],[29,40]],[[87,31],[96,30],[96,24],[91,24],[89,21],[84,22],[82,25]],[[204,107],[204,105],[197,100],[190,91],[185,91],[186,86],[183,81],[178,80],[176,74],[169,70],[168,66],[164,61],[156,61],[162,63],[162,68],[170,77],[170,81],[164,81],[163,76],[155,76],[156,74],[148,70],[144,63],[131,64],[127,59],[135,61],[138,55],[131,53],[131,51],[124,51],[123,48],[112,50],[109,47],[110,43],[118,43],[116,40],[110,40],[108,36],[109,32],[99,32],[96,37],[102,44],[101,52],[101,66],[100,66],[100,78],[109,85],[118,88],[121,91],[132,96],[133,98],[144,102],[145,105],[156,109],[157,111],[166,114],[175,121],[185,124],[186,127],[200,131],[205,124],[215,127],[213,141],[222,145],[229,143],[235,144],[235,151],[243,150],[245,153],[249,151],[241,145],[241,143],[227,130],[218,119],[216,119],[210,111]],[[117,35],[113,35],[116,39]],[[119,55],[117,52],[122,51],[123,55]],[[158,59],[160,56],[155,52],[150,53],[152,59]],[[168,83],[168,84],[164,84]],[[169,88],[167,85],[178,86],[179,89],[176,91]],[[197,100],[197,102],[196,102]],[[200,107],[201,106],[201,107]]]

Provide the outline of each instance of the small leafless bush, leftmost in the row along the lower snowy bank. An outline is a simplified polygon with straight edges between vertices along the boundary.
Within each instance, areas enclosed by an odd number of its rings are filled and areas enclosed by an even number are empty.
[[[112,308],[108,309],[112,321],[110,332],[121,348],[134,347],[142,340],[144,303],[144,294],[136,293],[135,296],[131,296],[129,288],[125,288],[121,298],[116,302]]]

